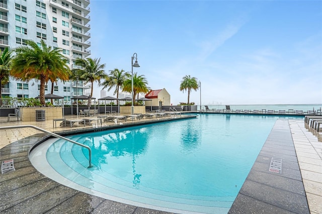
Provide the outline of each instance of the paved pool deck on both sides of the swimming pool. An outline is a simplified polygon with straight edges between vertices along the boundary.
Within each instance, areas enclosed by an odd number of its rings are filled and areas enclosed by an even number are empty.
[[[0,121],[0,126],[25,124],[51,132],[70,130],[53,128],[52,121]],[[79,128],[81,126],[72,130]],[[0,212],[167,213],[79,192],[40,174],[31,165],[28,151],[46,134],[24,128],[0,130],[0,136],[0,148],[4,147],[0,150],[0,159],[14,159],[16,168],[14,172],[1,175]],[[308,128],[304,121],[278,120],[229,213],[321,213],[321,139],[321,134]],[[272,157],[282,159],[282,174],[268,171]]]

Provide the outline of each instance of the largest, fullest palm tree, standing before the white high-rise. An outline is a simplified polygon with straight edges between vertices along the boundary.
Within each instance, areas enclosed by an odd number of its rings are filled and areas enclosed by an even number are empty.
[[[27,46],[16,48],[16,57],[10,74],[18,80],[40,80],[39,98],[42,105],[45,104],[45,84],[52,77],[64,79],[69,76],[70,70],[67,58],[61,54],[61,48],[52,49],[51,46],[41,40],[40,46],[36,42],[28,40]]]

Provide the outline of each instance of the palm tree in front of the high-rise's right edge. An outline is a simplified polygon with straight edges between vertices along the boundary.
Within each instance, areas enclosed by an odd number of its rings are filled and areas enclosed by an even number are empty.
[[[77,58],[75,65],[81,68],[74,68],[73,73],[79,75],[79,80],[84,80],[86,82],[92,83],[91,97],[93,96],[94,82],[98,81],[101,84],[101,79],[107,77],[104,72],[105,64],[100,64],[101,58]]]

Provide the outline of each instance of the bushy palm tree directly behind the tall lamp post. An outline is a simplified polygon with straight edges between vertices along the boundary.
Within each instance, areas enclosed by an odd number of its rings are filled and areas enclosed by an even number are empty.
[[[133,74],[133,103],[135,103],[135,96],[139,93],[147,93],[150,88],[147,86],[148,82],[144,75]],[[132,92],[132,75],[128,73],[123,84],[123,91]]]

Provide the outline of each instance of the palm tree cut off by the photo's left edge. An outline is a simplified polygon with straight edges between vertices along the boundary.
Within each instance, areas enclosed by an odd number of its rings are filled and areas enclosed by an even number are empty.
[[[9,48],[6,48],[0,56],[0,101],[2,97],[2,84],[6,84],[9,81],[12,59],[12,51],[9,51]]]

